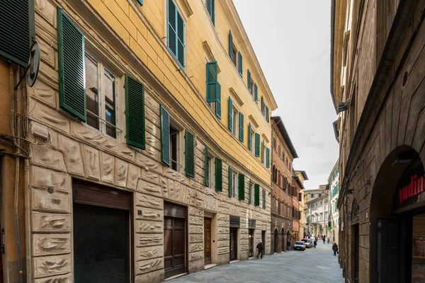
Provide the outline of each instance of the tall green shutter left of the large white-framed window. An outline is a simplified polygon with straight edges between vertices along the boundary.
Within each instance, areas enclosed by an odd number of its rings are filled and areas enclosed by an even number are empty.
[[[57,51],[60,108],[86,122],[84,35],[59,7]]]

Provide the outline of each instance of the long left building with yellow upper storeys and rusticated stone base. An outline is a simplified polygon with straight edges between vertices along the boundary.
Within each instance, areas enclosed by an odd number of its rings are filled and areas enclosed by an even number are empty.
[[[26,106],[10,133],[25,149],[23,277],[162,282],[247,260],[260,241],[271,252],[277,105],[232,1],[35,0],[33,18],[35,85],[14,90],[23,64],[6,47],[1,59],[1,96]]]

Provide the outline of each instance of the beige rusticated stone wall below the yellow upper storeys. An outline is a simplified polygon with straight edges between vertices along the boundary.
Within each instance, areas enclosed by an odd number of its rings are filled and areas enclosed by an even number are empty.
[[[96,29],[79,18],[64,1],[57,1],[84,28],[87,44],[101,50],[110,64],[125,74],[145,81],[141,72],[125,63],[120,53],[98,35]],[[188,207],[188,272],[204,268],[203,216],[204,210],[217,217],[217,264],[229,261],[229,215],[241,218],[239,255],[248,258],[248,219],[256,219],[256,238],[266,233],[266,253],[270,253],[270,200],[266,209],[254,207],[249,200],[249,183],[245,184],[245,201],[228,197],[228,166],[246,173],[246,180],[262,184],[237,164],[226,161],[226,153],[212,149],[223,158],[223,192],[215,192],[203,185],[204,144],[208,140],[196,137],[196,178],[188,178],[160,163],[159,103],[167,99],[158,97],[154,86],[145,83],[146,150],[125,144],[123,134],[113,139],[72,119],[59,109],[57,74],[57,31],[55,1],[35,0],[35,30],[41,46],[40,74],[33,88],[28,88],[30,125],[39,124],[49,129],[44,141],[29,134],[30,145],[30,255],[31,276],[35,283],[73,282],[72,256],[72,184],[73,180],[86,180],[108,185],[133,194],[135,213],[134,243],[136,282],[161,282],[164,279],[164,200]],[[124,64],[123,69],[117,62]],[[123,76],[118,77],[118,88],[123,89]],[[123,99],[124,91],[119,91]],[[122,100],[120,100],[122,102]],[[120,104],[121,105],[121,104]],[[174,109],[170,109],[173,112]],[[175,110],[174,115],[186,125],[186,113]],[[179,114],[180,113],[180,114]],[[118,113],[118,127],[125,128],[125,115]],[[196,133],[196,132],[195,132]],[[197,133],[196,133],[197,134]],[[210,146],[208,146],[210,149]],[[213,148],[213,146],[211,146]],[[242,149],[245,150],[245,149]],[[268,194],[266,194],[268,195]],[[260,203],[262,195],[260,194]]]

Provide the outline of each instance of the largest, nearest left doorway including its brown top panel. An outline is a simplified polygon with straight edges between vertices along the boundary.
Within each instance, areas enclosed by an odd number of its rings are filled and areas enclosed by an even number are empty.
[[[130,282],[130,204],[126,192],[74,185],[74,282]]]

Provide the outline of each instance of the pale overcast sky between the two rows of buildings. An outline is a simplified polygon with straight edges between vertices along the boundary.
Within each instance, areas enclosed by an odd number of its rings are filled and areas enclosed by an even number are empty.
[[[233,0],[300,158],[306,189],[326,184],[338,158],[329,90],[331,0]]]

